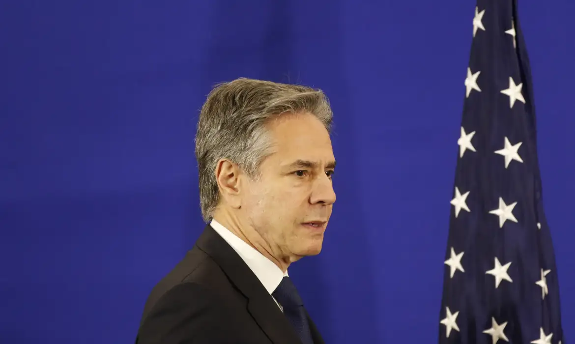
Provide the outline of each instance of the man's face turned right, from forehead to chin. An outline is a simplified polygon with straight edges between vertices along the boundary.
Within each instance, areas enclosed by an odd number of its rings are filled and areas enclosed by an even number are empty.
[[[274,153],[263,160],[261,177],[247,181],[242,209],[276,257],[319,254],[335,202],[329,133],[308,113],[281,116],[268,128]]]

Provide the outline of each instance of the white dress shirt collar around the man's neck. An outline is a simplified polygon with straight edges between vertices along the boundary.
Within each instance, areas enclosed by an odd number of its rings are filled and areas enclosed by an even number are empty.
[[[259,253],[258,250],[251,247],[248,243],[244,242],[244,240],[238,238],[235,234],[229,231],[228,228],[225,228],[223,225],[218,223],[218,221],[212,220],[210,225],[214,231],[216,231],[217,234],[219,234],[229,244],[229,246],[236,251],[241,259],[246,262],[247,266],[250,267],[252,272],[254,272],[255,276],[258,277],[258,280],[262,282],[264,288],[266,288],[266,291],[271,296],[271,293],[275,291],[275,288],[278,287],[279,282],[282,281],[283,277],[288,276],[287,271],[283,273],[274,262]],[[275,299],[274,301],[278,304],[279,309],[282,309],[278,301]]]

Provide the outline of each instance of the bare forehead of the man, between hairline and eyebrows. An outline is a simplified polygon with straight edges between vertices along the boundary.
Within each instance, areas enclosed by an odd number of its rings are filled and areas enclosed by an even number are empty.
[[[269,123],[275,158],[334,160],[331,138],[323,123],[309,113],[285,114]]]

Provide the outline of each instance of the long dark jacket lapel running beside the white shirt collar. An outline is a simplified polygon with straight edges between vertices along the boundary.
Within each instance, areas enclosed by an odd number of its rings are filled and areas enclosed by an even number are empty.
[[[258,277],[236,251],[209,224],[206,225],[196,245],[212,257],[229,280],[246,296],[248,312],[274,344],[301,343],[296,332],[266,291],[262,282],[258,280]]]

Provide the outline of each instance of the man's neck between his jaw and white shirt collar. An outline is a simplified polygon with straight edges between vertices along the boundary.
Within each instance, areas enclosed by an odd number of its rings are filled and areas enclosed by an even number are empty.
[[[252,225],[241,221],[239,216],[220,209],[214,213],[213,218],[264,257],[270,259],[283,273],[287,271],[291,262],[289,256],[282,254],[277,245],[269,243]]]

